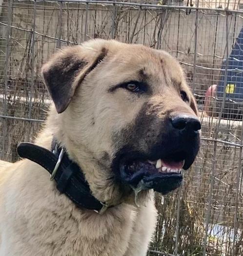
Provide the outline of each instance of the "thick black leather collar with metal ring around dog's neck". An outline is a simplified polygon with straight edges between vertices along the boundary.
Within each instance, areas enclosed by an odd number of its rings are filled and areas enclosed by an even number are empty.
[[[55,140],[52,142],[51,151],[27,142],[20,143],[17,151],[20,157],[27,158],[47,170],[51,174],[51,180],[56,181],[57,189],[78,207],[98,213],[107,209],[104,203],[92,195],[80,167],[69,159]]]

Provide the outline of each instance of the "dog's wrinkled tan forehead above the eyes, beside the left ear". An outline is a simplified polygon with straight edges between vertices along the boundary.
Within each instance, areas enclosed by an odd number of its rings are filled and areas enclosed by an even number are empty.
[[[127,44],[126,47],[118,47],[110,51],[108,48],[106,60],[106,65],[103,67],[105,69],[108,67],[110,72],[107,75],[114,76],[114,79],[119,74],[120,80],[129,78],[150,80],[151,86],[160,81],[164,81],[167,85],[171,85],[172,82],[179,85],[183,80],[181,67],[171,55],[142,45]]]

